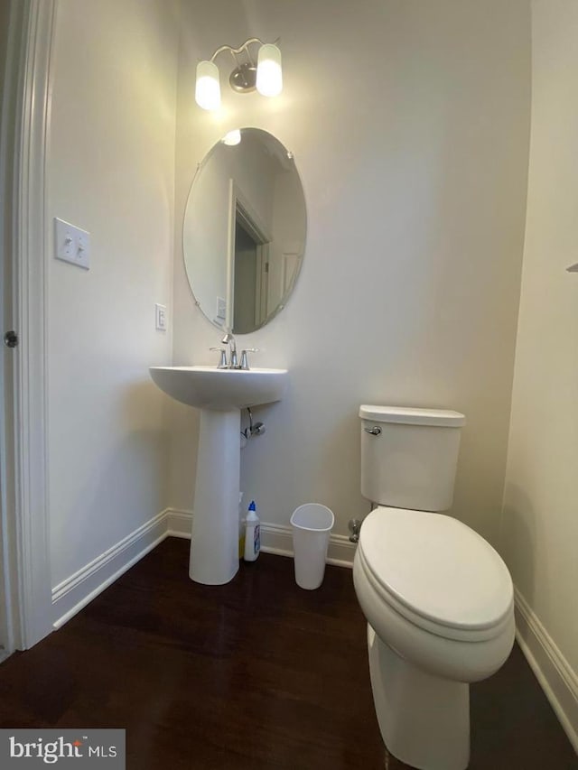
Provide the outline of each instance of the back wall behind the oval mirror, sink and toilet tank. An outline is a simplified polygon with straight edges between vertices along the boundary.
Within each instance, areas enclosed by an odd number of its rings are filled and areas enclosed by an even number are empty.
[[[194,67],[221,44],[281,37],[275,100],[223,88],[210,115]],[[496,540],[522,255],[529,121],[527,0],[183,3],[174,363],[210,363],[217,329],[192,302],[180,232],[191,180],[228,130],[294,153],[308,207],[303,270],[284,311],[239,347],[288,366],[258,410],[241,486],[266,522],[320,501],[346,533],[359,493],[359,404],[452,407],[468,418],[453,511]],[[226,84],[232,60],[219,57]],[[172,404],[170,503],[191,509],[195,410]]]

